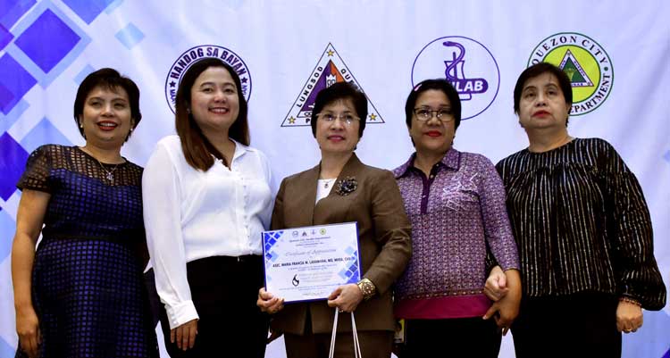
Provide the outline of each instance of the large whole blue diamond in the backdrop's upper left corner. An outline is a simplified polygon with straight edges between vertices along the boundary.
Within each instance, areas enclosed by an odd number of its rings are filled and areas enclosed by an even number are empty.
[[[80,41],[77,35],[50,9],[38,17],[19,38],[16,46],[28,55],[42,71],[48,73]]]

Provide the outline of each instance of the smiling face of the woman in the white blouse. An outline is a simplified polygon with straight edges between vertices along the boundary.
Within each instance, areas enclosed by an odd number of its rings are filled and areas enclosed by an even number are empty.
[[[223,67],[209,67],[191,87],[188,108],[203,132],[228,133],[239,114],[239,88]]]

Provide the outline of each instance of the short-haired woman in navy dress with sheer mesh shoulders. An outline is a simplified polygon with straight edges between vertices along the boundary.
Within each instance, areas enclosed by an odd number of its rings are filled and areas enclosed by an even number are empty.
[[[40,146],[17,185],[17,356],[157,357],[142,277],[142,169],[121,157],[141,119],[138,87],[95,71],[74,119],[86,145]]]

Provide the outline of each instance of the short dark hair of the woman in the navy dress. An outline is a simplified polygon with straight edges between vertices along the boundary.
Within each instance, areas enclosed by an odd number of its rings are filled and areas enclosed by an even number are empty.
[[[139,88],[132,79],[121,76],[119,71],[110,68],[100,69],[91,72],[86,76],[86,79],[81,81],[79,89],[77,89],[77,96],[74,98],[74,122],[77,123],[77,128],[80,129],[81,137],[84,137],[84,129],[80,127],[80,116],[84,114],[84,104],[88,94],[96,87],[104,87],[113,92],[119,88],[123,88],[128,95],[130,102],[130,118],[133,120],[132,129],[138,127],[139,121],[142,120],[142,113],[139,112]],[[130,138],[130,133],[126,137],[126,141]]]

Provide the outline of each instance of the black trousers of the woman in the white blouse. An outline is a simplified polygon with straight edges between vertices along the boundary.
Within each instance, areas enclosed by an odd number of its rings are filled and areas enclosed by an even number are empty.
[[[214,256],[186,265],[191,299],[196,305],[196,345],[186,351],[170,342],[164,305],[159,317],[165,348],[172,358],[263,358],[269,317],[255,305],[263,287],[263,258],[258,255]]]

